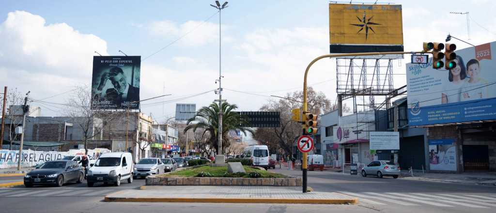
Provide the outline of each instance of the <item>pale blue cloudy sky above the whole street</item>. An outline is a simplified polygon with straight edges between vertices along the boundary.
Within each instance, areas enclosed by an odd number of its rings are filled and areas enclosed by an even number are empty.
[[[362,2],[362,1],[360,1]],[[373,3],[374,1],[363,1]],[[450,2],[449,4],[446,2]],[[50,103],[31,103],[42,116],[61,116],[75,85],[91,83],[92,57],[141,55],[141,111],[159,122],[176,104],[218,99],[219,14],[213,0],[5,0],[0,7],[0,85]],[[222,2],[221,2],[222,3]],[[302,90],[308,63],[329,52],[329,1],[231,0],[222,11],[223,99],[255,111]],[[405,51],[447,34],[474,45],[496,40],[496,4],[489,0],[397,0]],[[470,38],[466,15],[469,12]],[[467,44],[452,40],[458,49]],[[406,84],[405,59],[394,61],[394,87]],[[336,62],[320,60],[309,85],[336,99]]]

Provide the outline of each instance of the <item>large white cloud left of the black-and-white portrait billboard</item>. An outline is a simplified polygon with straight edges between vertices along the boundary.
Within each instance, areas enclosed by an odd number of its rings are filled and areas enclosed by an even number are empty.
[[[65,23],[46,24],[25,11],[9,12],[0,24],[2,85],[45,98],[89,84],[94,51],[107,53],[107,43]],[[63,99],[50,101],[63,102]]]

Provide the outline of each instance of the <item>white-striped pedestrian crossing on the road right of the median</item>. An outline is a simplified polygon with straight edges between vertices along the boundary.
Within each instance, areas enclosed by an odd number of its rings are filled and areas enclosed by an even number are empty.
[[[357,197],[358,202],[372,206],[432,206],[436,208],[496,208],[496,194],[446,194],[446,193],[377,193],[377,192],[345,192],[339,193]]]

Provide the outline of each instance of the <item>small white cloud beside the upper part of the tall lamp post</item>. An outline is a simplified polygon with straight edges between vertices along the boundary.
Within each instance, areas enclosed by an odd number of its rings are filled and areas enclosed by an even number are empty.
[[[229,28],[229,26],[222,25],[222,40],[224,42],[234,40],[228,34],[224,34],[224,31],[228,31]],[[148,25],[148,30],[152,36],[170,40],[178,39],[187,34],[179,43],[190,47],[216,43],[219,40],[219,25],[204,21],[186,21],[181,24],[170,20],[154,21]]]

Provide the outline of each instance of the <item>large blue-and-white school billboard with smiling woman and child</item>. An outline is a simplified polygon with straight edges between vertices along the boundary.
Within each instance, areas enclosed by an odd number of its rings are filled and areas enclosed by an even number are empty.
[[[496,119],[496,42],[455,51],[452,70],[406,66],[410,126]]]

